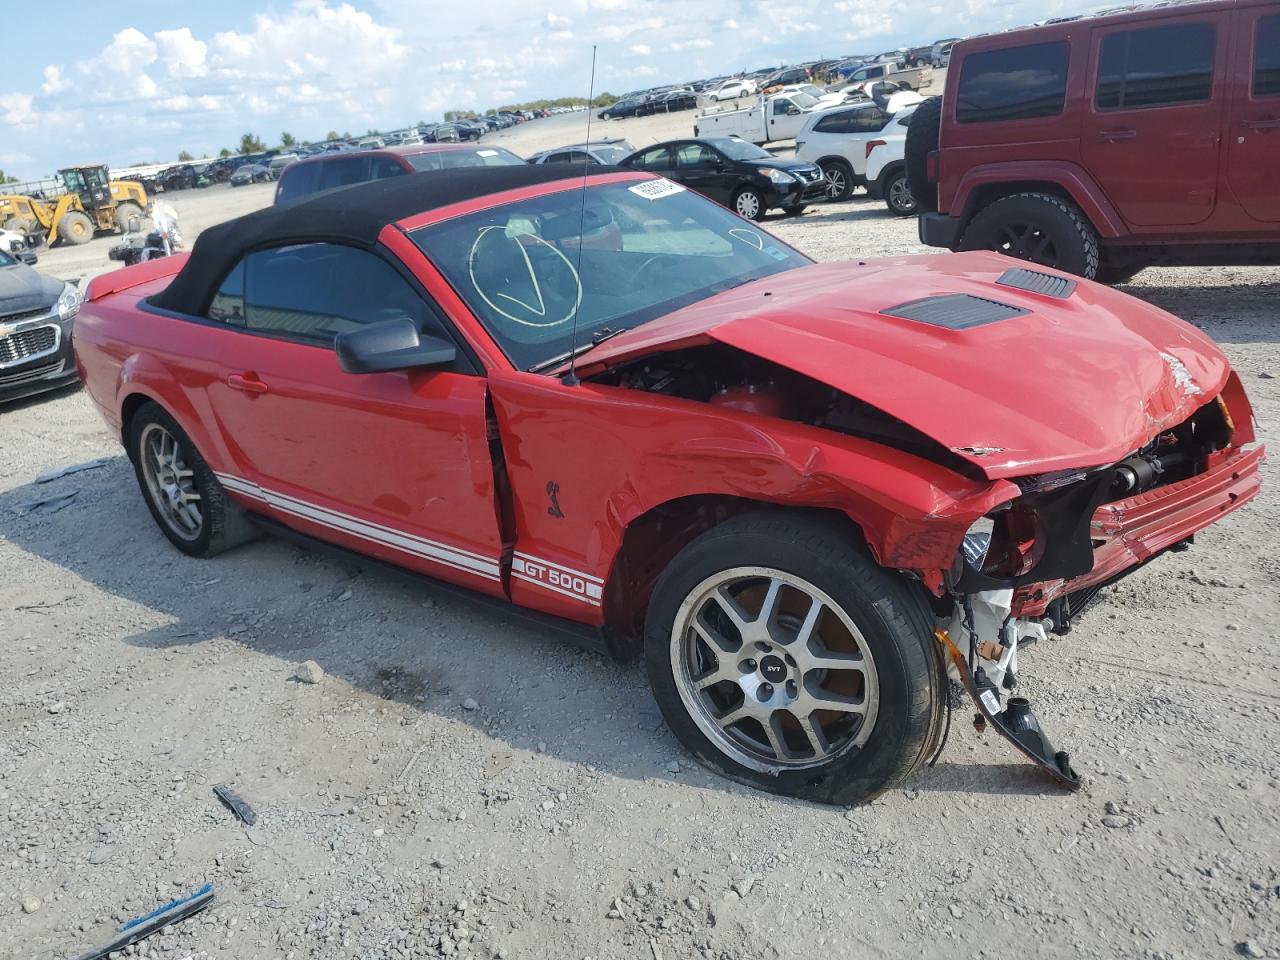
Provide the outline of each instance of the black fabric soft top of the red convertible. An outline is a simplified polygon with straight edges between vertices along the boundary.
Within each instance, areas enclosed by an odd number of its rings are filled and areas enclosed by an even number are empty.
[[[618,168],[591,166],[591,174]],[[463,166],[392,177],[315,193],[210,227],[200,234],[182,270],[151,302],[201,315],[223,278],[251,250],[321,241],[372,247],[387,224],[425,210],[490,193],[582,177],[580,164]]]

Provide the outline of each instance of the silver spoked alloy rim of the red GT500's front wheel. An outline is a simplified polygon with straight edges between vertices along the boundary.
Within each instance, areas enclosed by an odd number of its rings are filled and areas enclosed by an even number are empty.
[[[671,667],[699,730],[750,769],[828,763],[876,726],[879,681],[861,631],[785,571],[736,567],[699,584],[676,614]]]

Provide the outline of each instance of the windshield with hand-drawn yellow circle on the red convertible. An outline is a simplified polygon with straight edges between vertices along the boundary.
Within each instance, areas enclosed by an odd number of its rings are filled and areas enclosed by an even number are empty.
[[[812,262],[664,179],[564,189],[411,236],[521,370],[568,355],[575,314],[580,347]]]

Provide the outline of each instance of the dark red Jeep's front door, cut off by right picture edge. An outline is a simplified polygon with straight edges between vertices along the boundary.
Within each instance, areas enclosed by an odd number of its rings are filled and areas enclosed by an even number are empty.
[[[1251,220],[1280,220],[1280,13],[1236,10],[1226,182]],[[1240,225],[1248,229],[1248,224]]]

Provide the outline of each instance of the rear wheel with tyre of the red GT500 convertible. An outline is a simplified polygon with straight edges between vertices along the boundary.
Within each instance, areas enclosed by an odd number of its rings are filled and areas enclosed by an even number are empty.
[[[256,536],[248,516],[163,407],[145,403],[133,415],[128,451],[142,499],[179,550],[212,557]]]

